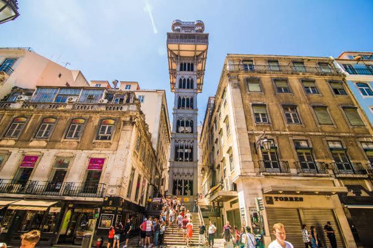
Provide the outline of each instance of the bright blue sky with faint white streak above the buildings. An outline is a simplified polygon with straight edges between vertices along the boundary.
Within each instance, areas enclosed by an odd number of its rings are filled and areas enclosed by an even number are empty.
[[[174,19],[203,20],[210,33],[199,120],[227,53],[373,51],[373,1],[38,0],[19,1],[19,7],[21,16],[0,26],[1,47],[32,47],[60,64],[69,62],[88,80],[166,89],[170,118],[166,32]]]

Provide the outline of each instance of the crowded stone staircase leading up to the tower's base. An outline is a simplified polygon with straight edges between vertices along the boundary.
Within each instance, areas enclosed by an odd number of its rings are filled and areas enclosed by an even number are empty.
[[[198,213],[191,213],[192,216],[192,223],[193,223],[193,236],[192,236],[192,242],[189,244],[189,246],[198,246],[198,226],[200,226],[200,219],[198,217]],[[166,232],[164,233],[164,242],[167,246],[169,245],[185,245],[186,242],[183,240],[183,233],[182,230],[180,230],[180,233],[178,233],[177,228],[177,222],[173,223],[173,226],[170,226],[166,229]]]

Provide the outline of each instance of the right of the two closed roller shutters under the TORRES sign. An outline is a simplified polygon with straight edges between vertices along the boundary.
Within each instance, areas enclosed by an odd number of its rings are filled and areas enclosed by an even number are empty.
[[[334,229],[338,247],[345,247],[333,210],[302,209],[301,211],[303,212],[304,224],[307,224],[307,229],[310,230],[311,226],[316,227],[317,235],[319,235],[319,238],[323,242],[323,247],[330,247],[329,239],[324,232],[324,226],[326,225],[327,221],[332,223],[332,228]]]

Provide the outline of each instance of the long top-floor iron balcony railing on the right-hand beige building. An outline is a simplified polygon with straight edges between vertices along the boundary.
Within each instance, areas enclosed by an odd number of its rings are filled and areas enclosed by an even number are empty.
[[[316,74],[316,75],[341,75],[342,71],[332,67],[310,67],[310,66],[269,66],[253,64],[227,64],[228,72],[237,73],[283,73],[283,74]]]

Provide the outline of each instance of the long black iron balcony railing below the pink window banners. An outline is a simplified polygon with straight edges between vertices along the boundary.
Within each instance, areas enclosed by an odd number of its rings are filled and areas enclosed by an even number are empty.
[[[103,197],[105,184],[0,179],[0,193]]]

